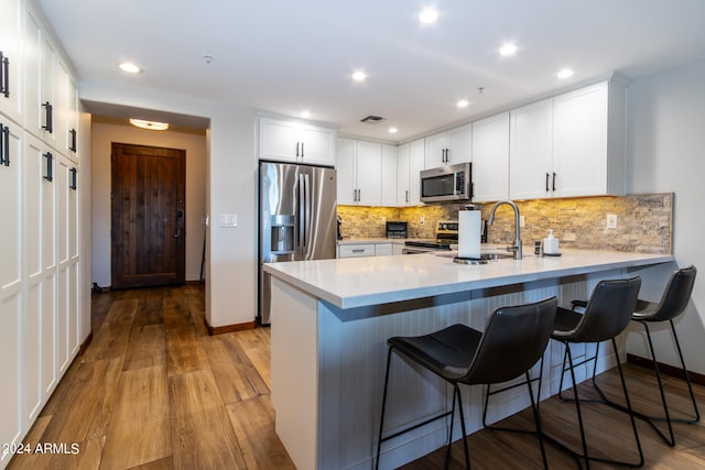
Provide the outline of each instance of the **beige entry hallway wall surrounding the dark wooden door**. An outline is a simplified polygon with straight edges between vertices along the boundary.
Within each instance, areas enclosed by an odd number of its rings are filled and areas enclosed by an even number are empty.
[[[205,133],[162,132],[129,124],[93,123],[93,282],[105,287],[110,280],[110,149],[111,143],[154,145],[186,151],[186,281],[200,278],[206,217]]]

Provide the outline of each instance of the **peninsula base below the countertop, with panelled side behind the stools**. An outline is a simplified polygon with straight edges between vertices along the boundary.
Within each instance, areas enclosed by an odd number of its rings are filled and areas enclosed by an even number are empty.
[[[588,298],[600,280],[626,275],[628,270],[620,267],[341,309],[274,274],[272,403],[276,411],[276,433],[299,468],[369,469],[377,452],[389,337],[425,335],[455,323],[484,330],[496,308],[554,295],[560,304],[566,305],[574,298]],[[410,306],[419,308],[398,311]],[[623,340],[619,343],[623,349]],[[586,351],[584,345],[577,345],[572,351],[577,362],[578,357],[592,353],[594,346],[588,346]],[[544,357],[542,398],[557,393],[563,347],[551,341]],[[598,372],[614,367],[616,360],[608,348],[603,348]],[[590,376],[592,363],[581,367],[576,373],[578,381]],[[568,386],[570,380],[564,382],[564,387]],[[460,389],[468,417],[466,425],[468,431],[474,433],[481,428],[484,390]],[[393,368],[384,434],[444,411],[443,403],[449,406],[451,400],[452,390],[441,379],[409,365]],[[488,420],[502,419],[529,405],[525,391],[505,392],[490,400]],[[399,467],[444,446],[446,426],[446,420],[437,420],[390,440],[383,446],[381,468]],[[454,428],[455,440],[460,438],[460,431],[459,426]]]

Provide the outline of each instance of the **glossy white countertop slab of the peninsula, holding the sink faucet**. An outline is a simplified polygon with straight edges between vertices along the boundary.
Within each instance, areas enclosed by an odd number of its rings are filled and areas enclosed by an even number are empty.
[[[271,263],[264,271],[339,308],[354,308],[670,261],[670,254],[564,250],[561,256],[527,254],[481,265],[413,254]]]

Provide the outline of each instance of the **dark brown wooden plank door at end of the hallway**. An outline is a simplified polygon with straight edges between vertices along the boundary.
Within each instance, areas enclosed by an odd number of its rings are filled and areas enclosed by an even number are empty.
[[[186,151],[112,143],[112,287],[185,281]]]

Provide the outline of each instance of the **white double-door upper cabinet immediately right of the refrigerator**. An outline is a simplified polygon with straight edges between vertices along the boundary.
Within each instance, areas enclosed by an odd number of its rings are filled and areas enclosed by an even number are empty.
[[[340,138],[337,147],[339,205],[379,206],[382,201],[382,145]]]

